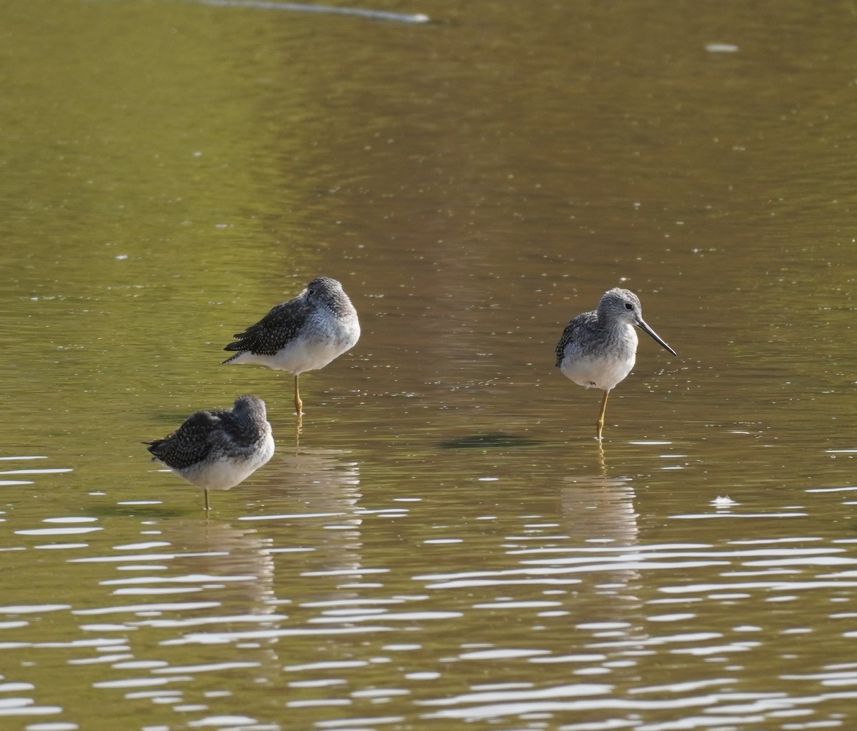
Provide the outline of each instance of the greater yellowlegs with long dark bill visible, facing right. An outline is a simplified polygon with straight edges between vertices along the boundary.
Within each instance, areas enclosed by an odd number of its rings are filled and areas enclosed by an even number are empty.
[[[646,325],[637,295],[618,287],[604,292],[598,309],[583,312],[569,322],[556,344],[556,367],[578,386],[595,386],[604,392],[596,422],[599,441],[608,393],[634,367],[638,343],[634,325],[678,355]]]

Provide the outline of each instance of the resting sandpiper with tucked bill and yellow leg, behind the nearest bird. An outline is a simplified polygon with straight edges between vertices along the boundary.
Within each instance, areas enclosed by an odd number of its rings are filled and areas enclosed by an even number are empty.
[[[235,335],[225,351],[239,351],[224,363],[261,363],[295,375],[295,410],[303,402],[300,374],[324,368],[360,338],[357,310],[336,279],[318,277],[288,302],[280,303],[255,325]]]

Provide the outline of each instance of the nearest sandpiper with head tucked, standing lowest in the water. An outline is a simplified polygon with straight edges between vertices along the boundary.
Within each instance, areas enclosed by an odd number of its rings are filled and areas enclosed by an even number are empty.
[[[145,442],[153,462],[205,490],[228,490],[273,455],[265,402],[240,396],[231,409],[197,411],[164,439]]]

